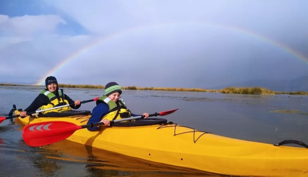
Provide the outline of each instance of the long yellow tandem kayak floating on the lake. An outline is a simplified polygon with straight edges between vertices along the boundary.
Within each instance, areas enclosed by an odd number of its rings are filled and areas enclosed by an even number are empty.
[[[15,115],[20,112],[14,111]],[[65,121],[85,125],[91,111],[71,111],[65,117],[16,118],[22,125]],[[235,176],[308,176],[308,146],[289,147],[233,139],[148,118],[118,122],[99,131],[80,129],[66,140],[148,161]],[[306,146],[306,144],[302,144]]]

